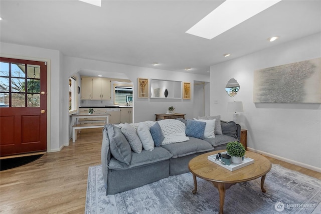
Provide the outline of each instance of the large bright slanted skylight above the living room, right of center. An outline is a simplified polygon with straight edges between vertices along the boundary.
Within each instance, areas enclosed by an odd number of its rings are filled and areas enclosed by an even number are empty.
[[[226,0],[186,33],[213,39],[281,0]]]

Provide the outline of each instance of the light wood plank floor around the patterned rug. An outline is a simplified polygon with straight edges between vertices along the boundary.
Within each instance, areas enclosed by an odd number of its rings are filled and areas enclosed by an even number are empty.
[[[88,167],[100,164],[101,129],[83,130],[75,143],[24,166],[0,172],[1,213],[84,213]],[[321,179],[321,173],[268,158]]]

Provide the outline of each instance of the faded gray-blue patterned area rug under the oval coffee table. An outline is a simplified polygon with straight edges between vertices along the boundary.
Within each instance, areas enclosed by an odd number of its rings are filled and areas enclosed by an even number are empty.
[[[146,175],[147,176],[147,175]],[[225,213],[321,213],[321,181],[272,164],[261,191],[261,179],[237,183],[226,190]],[[191,173],[105,195],[101,165],[90,166],[85,213],[218,213],[219,194],[212,183]]]

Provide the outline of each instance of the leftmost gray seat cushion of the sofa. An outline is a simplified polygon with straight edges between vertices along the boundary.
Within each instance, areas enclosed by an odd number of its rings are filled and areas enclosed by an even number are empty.
[[[142,150],[139,154],[132,152],[129,166],[116,160],[115,158],[111,158],[108,164],[108,168],[116,170],[135,168],[142,165],[148,165],[155,162],[167,160],[172,156],[173,155],[168,150],[162,147],[155,147],[152,151]]]

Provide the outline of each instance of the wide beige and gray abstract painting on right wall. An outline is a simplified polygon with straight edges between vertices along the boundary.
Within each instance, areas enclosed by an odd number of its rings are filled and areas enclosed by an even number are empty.
[[[254,71],[255,103],[321,103],[321,58]]]

